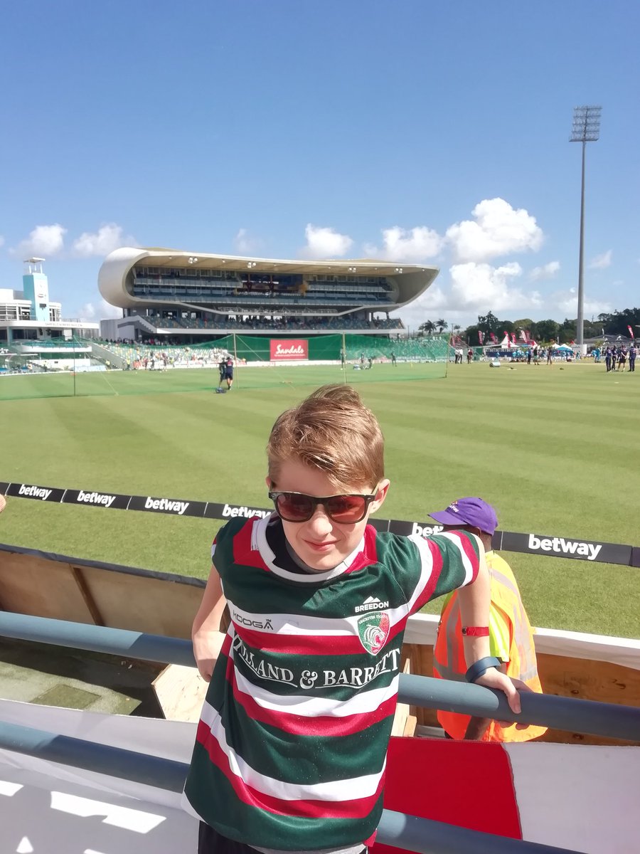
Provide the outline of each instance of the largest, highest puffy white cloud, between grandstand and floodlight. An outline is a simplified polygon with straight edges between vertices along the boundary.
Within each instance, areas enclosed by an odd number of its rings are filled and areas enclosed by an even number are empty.
[[[544,234],[524,208],[512,208],[504,199],[484,199],[471,212],[474,217],[451,225],[446,240],[454,260],[486,261],[498,255],[537,250]]]

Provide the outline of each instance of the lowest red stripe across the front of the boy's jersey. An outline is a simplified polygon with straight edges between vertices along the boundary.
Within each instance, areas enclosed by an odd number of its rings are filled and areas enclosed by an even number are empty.
[[[252,786],[247,786],[247,783],[233,773],[230,769],[226,753],[219,746],[218,740],[212,735],[207,724],[202,721],[198,724],[196,740],[207,751],[212,763],[224,774],[230,786],[233,787],[236,797],[243,804],[252,806],[257,810],[274,813],[276,816],[299,816],[301,818],[323,819],[366,818],[375,807],[375,802],[380,797],[384,787],[385,775],[382,774],[375,793],[369,795],[367,798],[354,798],[348,801],[285,800],[283,798],[274,798],[272,795],[259,792],[258,789]]]

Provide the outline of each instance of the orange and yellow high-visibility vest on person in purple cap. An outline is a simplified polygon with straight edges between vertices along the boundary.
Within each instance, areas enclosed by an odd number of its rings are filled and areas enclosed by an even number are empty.
[[[497,558],[497,559],[496,559]],[[492,564],[499,564],[500,569]],[[527,612],[522,605],[520,590],[513,572],[503,559],[492,552],[486,554],[486,565],[491,576],[492,617],[509,624],[509,662],[507,676],[521,679],[532,691],[542,693],[538,679],[533,632]],[[440,679],[464,681],[468,670],[464,659],[463,626],[457,591],[451,595],[440,616],[438,638],[433,646],[433,676]],[[490,627],[491,629],[491,627]],[[454,739],[463,739],[467,731],[468,715],[451,711],[438,711],[438,720],[445,733]],[[492,721],[486,728],[482,741],[530,741],[547,731],[546,727],[530,725],[516,729],[515,723],[501,727]]]

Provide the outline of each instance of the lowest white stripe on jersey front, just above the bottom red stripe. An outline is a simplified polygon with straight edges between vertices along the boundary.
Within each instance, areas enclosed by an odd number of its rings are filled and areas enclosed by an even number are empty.
[[[282,800],[323,800],[323,801],[352,801],[368,798],[375,794],[384,774],[387,759],[378,774],[352,777],[350,780],[331,780],[323,783],[300,785],[285,783],[275,777],[262,775],[252,768],[236,751],[229,746],[224,732],[222,719],[218,712],[207,701],[202,706],[201,721],[207,725],[218,746],[229,760],[231,773],[241,781],[265,795]]]

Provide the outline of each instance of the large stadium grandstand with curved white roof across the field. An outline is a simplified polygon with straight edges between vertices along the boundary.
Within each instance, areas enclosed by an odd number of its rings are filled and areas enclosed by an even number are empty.
[[[195,344],[228,336],[350,333],[392,336],[390,314],[424,293],[436,267],[382,260],[269,260],[177,249],[116,249],[98,287],[123,317],[103,320],[112,341]]]

